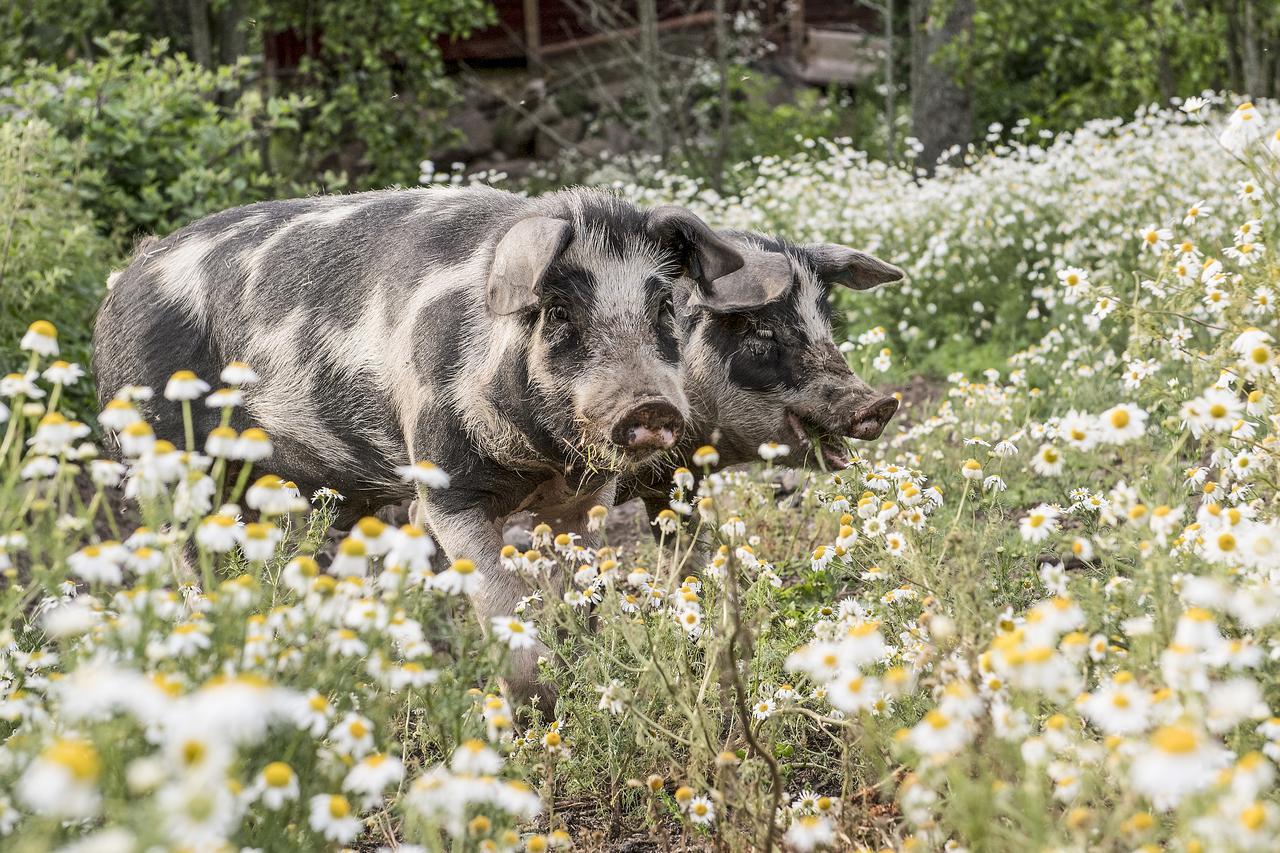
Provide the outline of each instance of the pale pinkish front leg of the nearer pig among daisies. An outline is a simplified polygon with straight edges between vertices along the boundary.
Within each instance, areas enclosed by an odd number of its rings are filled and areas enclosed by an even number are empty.
[[[457,489],[449,491],[451,501],[456,501]],[[520,578],[498,562],[502,551],[502,528],[486,517],[479,500],[475,508],[448,511],[435,505],[430,494],[421,496],[415,521],[435,534],[449,560],[465,557],[476,564],[484,583],[471,597],[471,603],[486,635],[494,616],[511,616],[516,612],[516,605],[525,597],[526,590]],[[502,679],[503,689],[513,707],[527,708],[536,704],[545,719],[554,716],[558,698],[554,688],[538,680],[538,658],[549,654],[543,643],[508,652],[506,674]]]

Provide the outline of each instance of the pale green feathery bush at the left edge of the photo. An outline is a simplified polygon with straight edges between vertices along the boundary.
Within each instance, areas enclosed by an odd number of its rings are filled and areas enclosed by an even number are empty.
[[[41,119],[0,122],[0,346],[44,318],[67,329],[67,359],[88,364],[93,313],[115,252],[72,187],[82,149]],[[50,164],[76,164],[69,173]],[[87,414],[91,394],[70,397]]]

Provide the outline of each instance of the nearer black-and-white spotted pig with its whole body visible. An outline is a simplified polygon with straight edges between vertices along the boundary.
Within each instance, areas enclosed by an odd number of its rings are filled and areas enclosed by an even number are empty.
[[[161,388],[178,369],[212,380],[230,360],[250,364],[260,382],[232,425],[269,433],[266,466],[305,494],[346,496],[337,526],[417,497],[445,555],[481,573],[474,605],[488,626],[525,593],[500,567],[506,516],[535,511],[585,534],[617,475],[680,439],[689,401],[673,282],[709,305],[741,301],[732,284],[712,289],[741,265],[687,210],[588,190],[248,205],[148,245],[115,278],[95,327],[99,397]],[[141,406],[182,444],[178,403]],[[218,416],[196,406],[197,434]],[[452,485],[407,483],[398,469],[422,460]],[[554,699],[536,681],[540,653],[509,661],[518,704]]]

